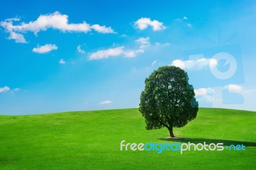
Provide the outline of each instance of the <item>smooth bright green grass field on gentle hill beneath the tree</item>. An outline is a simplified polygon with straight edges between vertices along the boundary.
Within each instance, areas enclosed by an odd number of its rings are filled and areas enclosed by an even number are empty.
[[[164,143],[138,109],[0,116],[0,169],[256,169],[256,112],[200,108],[174,134],[188,143],[245,151],[120,151],[120,142]],[[171,141],[168,141],[170,143]]]

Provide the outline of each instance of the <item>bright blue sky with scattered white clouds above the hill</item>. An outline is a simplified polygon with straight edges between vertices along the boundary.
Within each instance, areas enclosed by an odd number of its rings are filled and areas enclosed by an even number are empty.
[[[255,1],[4,1],[0,114],[138,107],[159,66],[200,107],[256,111]]]

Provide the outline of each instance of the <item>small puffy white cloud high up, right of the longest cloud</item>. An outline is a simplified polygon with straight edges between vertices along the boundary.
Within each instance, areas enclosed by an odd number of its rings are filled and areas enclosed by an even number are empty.
[[[166,26],[163,26],[163,22],[159,22],[158,20],[151,20],[150,18],[144,18],[138,19],[136,22],[134,22],[134,26],[138,27],[138,29],[146,29],[148,26],[151,26],[153,31],[161,31],[166,29]]]

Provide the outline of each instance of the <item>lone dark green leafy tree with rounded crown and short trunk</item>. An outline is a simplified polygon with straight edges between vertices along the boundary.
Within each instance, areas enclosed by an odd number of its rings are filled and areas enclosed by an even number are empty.
[[[139,111],[147,130],[166,127],[175,137],[173,127],[184,127],[196,118],[198,102],[188,80],[188,74],[176,66],[161,66],[145,80]]]

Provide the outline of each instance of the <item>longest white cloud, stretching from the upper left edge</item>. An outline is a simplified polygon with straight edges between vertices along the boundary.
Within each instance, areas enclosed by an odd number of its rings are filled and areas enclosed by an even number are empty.
[[[8,39],[15,40],[15,42],[26,43],[24,36],[20,33],[31,31],[37,35],[40,31],[46,31],[49,28],[58,29],[62,32],[81,32],[87,33],[92,29],[98,33],[115,33],[111,27],[100,26],[99,24],[87,24],[82,22],[79,24],[69,24],[68,15],[62,15],[60,12],[49,13],[40,15],[35,21],[28,23],[21,22],[18,25],[13,25],[13,21],[17,22],[20,19],[6,19],[0,22],[0,26],[4,27],[6,32],[10,33]]]

